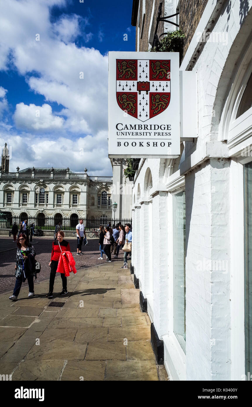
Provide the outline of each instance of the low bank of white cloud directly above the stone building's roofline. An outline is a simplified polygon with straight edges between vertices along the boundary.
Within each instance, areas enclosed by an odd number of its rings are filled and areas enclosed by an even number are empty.
[[[17,133],[1,128],[0,145],[7,142],[12,149],[10,171],[27,167],[69,167],[75,172],[83,172],[90,167],[90,175],[112,175],[112,167],[107,159],[106,132],[95,136],[88,135],[71,140],[66,137],[56,139],[47,136],[34,136],[33,133]],[[25,151],[25,154],[22,152]]]

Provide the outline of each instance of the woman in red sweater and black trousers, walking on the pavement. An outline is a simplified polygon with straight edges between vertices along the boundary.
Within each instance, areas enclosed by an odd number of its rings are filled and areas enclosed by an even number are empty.
[[[62,230],[60,230],[57,233],[56,239],[53,241],[51,261],[49,263],[49,266],[51,267],[50,281],[49,281],[49,293],[46,294],[46,297],[48,297],[48,298],[53,298],[53,284],[54,284],[54,280],[55,280],[55,276],[56,276],[56,270],[58,267],[59,256],[61,254],[61,250],[70,252],[69,243],[66,240],[64,240],[64,236],[65,236],[64,232],[62,232]],[[59,244],[61,246],[61,249],[59,247]],[[61,280],[62,280],[62,291],[59,295],[65,295],[68,293],[67,288],[66,288],[67,280],[66,280],[65,274],[60,273],[60,275],[61,275]]]

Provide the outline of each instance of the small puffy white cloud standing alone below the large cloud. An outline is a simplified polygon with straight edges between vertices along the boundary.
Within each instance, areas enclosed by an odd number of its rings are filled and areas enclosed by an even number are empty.
[[[64,119],[52,114],[52,107],[48,104],[29,106],[23,102],[16,105],[14,114],[15,125],[18,129],[28,130],[54,130],[61,129]]]

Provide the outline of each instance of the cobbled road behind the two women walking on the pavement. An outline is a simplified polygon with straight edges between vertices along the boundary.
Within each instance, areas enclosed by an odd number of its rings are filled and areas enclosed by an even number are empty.
[[[100,257],[98,239],[88,239],[88,245],[82,246],[82,252],[84,253],[83,256],[77,256],[76,237],[68,237],[66,240],[69,241],[70,249],[73,253],[77,270],[105,263],[105,256],[103,256],[104,260],[98,260],[98,258]],[[37,284],[39,281],[44,280],[45,278],[49,278],[50,276],[50,267],[48,266],[48,263],[50,261],[52,251],[52,242],[52,238],[33,238],[32,244],[34,245],[36,251],[36,259],[41,264],[41,272],[37,275],[35,284]],[[2,236],[0,238],[0,293],[12,290],[15,285],[14,267],[17,251],[16,247],[16,244],[12,242],[12,237]],[[6,251],[2,252],[3,250]],[[123,262],[123,251],[120,250],[118,259],[113,259],[112,256],[112,260],[120,263]]]

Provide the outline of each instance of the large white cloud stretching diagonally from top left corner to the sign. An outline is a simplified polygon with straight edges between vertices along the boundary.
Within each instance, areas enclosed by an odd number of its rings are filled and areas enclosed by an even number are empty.
[[[62,4],[59,0],[9,0],[6,7],[0,2],[0,69],[7,69],[11,50],[20,74],[38,73],[27,79],[31,89],[48,103],[68,109],[67,131],[75,133],[78,128],[82,134],[96,133],[107,128],[108,58],[94,48],[78,48],[69,42],[79,34],[78,16],[64,15],[57,24],[50,23],[48,4],[55,3]],[[88,25],[83,20],[81,24]],[[86,36],[90,39],[91,33]]]

